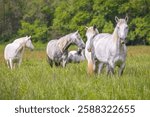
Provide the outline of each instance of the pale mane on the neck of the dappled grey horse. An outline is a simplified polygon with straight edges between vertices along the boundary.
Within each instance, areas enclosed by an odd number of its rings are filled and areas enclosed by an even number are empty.
[[[63,52],[65,49],[68,49],[68,47],[70,46],[70,36],[71,34],[68,34],[66,36],[61,37],[60,39],[58,39],[58,47],[59,49]]]

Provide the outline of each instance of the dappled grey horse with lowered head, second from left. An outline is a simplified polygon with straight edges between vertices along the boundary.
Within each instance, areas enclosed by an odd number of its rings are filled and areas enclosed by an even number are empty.
[[[78,31],[63,36],[58,40],[51,40],[48,42],[46,54],[51,67],[53,66],[53,62],[56,66],[66,66],[68,48],[72,44],[77,45],[80,49],[85,48],[85,44]]]

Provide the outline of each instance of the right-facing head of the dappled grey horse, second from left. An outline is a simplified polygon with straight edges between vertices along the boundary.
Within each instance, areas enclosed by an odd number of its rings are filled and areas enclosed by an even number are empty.
[[[75,43],[80,49],[85,48],[85,43],[83,42],[78,31],[72,34],[72,39],[73,39],[73,43]]]

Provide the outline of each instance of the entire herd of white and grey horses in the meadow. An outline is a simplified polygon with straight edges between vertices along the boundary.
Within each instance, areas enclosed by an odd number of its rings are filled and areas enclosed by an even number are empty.
[[[83,42],[78,31],[50,40],[46,47],[48,63],[51,67],[65,67],[68,62],[80,62],[85,58],[88,62],[88,73],[100,74],[104,65],[107,74],[113,75],[115,66],[119,67],[118,75],[121,76],[126,61],[126,37],[128,33],[128,17],[119,19],[115,17],[116,27],[112,34],[99,33],[96,26],[86,27],[86,44]],[[77,51],[68,52],[68,48],[75,44]],[[6,45],[4,58],[7,66],[14,69],[20,66],[25,47],[34,49],[31,36],[22,37]]]

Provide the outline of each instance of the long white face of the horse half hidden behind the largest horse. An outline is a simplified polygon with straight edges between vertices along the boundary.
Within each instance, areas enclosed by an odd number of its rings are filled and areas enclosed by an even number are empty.
[[[87,42],[86,42],[86,48],[89,52],[91,52],[92,50],[92,42],[94,39],[94,36],[96,36],[98,34],[98,29],[96,28],[96,26],[92,26],[87,28],[86,31],[86,37],[87,37]]]

